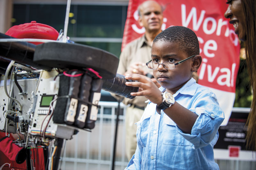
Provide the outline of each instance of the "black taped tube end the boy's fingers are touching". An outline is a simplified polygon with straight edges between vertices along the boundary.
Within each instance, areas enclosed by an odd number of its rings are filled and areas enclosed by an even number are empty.
[[[138,87],[126,86],[126,80],[124,75],[116,74],[116,77],[113,79],[104,79],[102,89],[111,93],[115,93],[116,95],[123,96],[129,99],[133,99],[135,96],[131,96],[131,92],[138,92]]]

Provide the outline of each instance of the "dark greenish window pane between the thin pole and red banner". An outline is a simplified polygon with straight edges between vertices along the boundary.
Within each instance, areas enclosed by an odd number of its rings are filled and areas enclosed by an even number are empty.
[[[123,36],[122,6],[79,5],[77,11],[77,37]]]

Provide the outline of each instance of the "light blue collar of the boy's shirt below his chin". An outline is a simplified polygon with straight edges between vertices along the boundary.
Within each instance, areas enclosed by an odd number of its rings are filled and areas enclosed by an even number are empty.
[[[191,95],[194,96],[196,93],[196,80],[191,78],[186,84],[184,84],[174,95],[173,97],[176,97],[179,93],[183,95]],[[160,91],[164,91],[165,88],[160,87]]]

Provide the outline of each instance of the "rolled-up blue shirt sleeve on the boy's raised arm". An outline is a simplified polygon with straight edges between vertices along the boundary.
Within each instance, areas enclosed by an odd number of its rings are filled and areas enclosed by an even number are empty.
[[[177,130],[192,144],[192,148],[197,149],[209,145],[218,135],[220,124],[224,120],[224,113],[213,93],[204,93],[194,101],[195,103],[189,110],[196,113],[198,117],[192,127],[191,134],[183,133],[178,126]]]

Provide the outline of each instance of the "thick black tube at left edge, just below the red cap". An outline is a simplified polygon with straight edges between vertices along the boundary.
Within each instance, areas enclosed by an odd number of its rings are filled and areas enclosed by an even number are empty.
[[[13,37],[0,33],[0,39],[13,39]],[[35,49],[36,45],[28,42],[0,42],[1,57],[38,69],[51,70],[51,67],[33,62]]]

